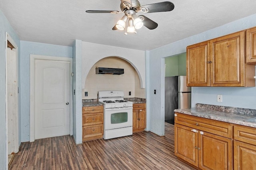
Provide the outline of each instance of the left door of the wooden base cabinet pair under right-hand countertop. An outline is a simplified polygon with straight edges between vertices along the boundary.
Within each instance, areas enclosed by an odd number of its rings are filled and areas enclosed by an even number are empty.
[[[175,156],[198,166],[198,132],[190,127],[175,123],[174,133]]]

